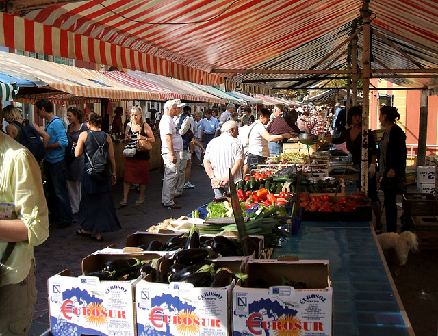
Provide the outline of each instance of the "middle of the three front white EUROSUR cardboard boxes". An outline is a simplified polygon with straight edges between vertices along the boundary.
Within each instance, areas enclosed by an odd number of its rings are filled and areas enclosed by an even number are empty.
[[[244,261],[233,260],[242,270]],[[165,262],[166,263],[166,262]],[[227,264],[227,263],[224,263]],[[164,267],[164,263],[162,264]],[[138,335],[218,335],[232,333],[233,287],[193,287],[190,283],[148,283],[136,285]]]

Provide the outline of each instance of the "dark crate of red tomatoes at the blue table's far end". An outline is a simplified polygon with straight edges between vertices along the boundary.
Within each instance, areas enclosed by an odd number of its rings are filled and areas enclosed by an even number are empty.
[[[371,221],[372,207],[370,198],[359,193],[351,195],[329,196],[326,194],[300,195],[302,220],[352,222]]]

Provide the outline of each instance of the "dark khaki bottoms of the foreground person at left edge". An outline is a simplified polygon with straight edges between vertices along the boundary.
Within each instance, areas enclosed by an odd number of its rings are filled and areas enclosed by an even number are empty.
[[[35,262],[21,283],[0,287],[0,335],[27,335],[36,304]]]

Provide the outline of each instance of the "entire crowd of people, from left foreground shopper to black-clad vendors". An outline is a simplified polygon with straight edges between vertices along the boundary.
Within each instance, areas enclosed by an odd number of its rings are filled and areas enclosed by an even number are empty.
[[[33,248],[47,239],[49,225],[63,228],[75,221],[80,227],[77,235],[96,241],[104,240],[103,233],[120,229],[112,197],[112,187],[117,182],[114,137],[102,131],[101,116],[94,112],[84,115],[81,109],[70,107],[66,127],[55,115],[49,100],[40,99],[35,109],[45,120],[44,129],[30,123],[45,148],[42,162],[37,162],[36,157],[19,144],[25,125],[21,112],[12,105],[2,110],[8,126],[0,132],[3,162],[0,202],[12,204],[12,217],[0,218],[0,307],[5,312],[0,315],[0,334],[7,333],[7,328],[16,323],[23,331],[30,326],[36,300]],[[122,124],[123,109],[117,107],[113,129],[118,133],[116,138],[121,139],[122,133],[126,148],[138,148],[138,142],[155,142],[154,131],[159,131],[164,165],[161,203],[166,209],[180,209],[175,198],[183,196],[185,189],[195,188],[190,183],[193,155],[211,181],[213,196],[219,198],[227,192],[229,183],[242,179],[271,154],[280,154],[285,141],[297,141],[303,132],[327,135],[326,120],[330,112],[323,111],[322,107],[285,109],[284,105],[275,105],[272,110],[261,108],[253,112],[246,106],[238,111],[240,113],[229,103],[220,114],[217,108],[192,113],[189,105],[175,99],[164,103],[162,113],[151,109],[144,115],[140,107],[127,107],[126,121]],[[338,125],[340,130],[332,141],[346,143],[352,163],[360,171],[361,107],[354,106],[344,112],[335,106],[331,114],[331,126]],[[325,120],[322,115],[326,116]],[[342,122],[339,118],[344,116],[346,120]],[[376,215],[376,231],[382,228],[377,183],[385,195],[387,231],[396,231],[396,196],[406,192],[406,135],[396,123],[399,118],[396,107],[383,106],[379,121],[385,127],[385,134],[378,147],[374,138],[368,136],[368,196]],[[342,125],[347,128],[343,129]],[[101,179],[94,177],[96,153],[107,157],[107,175]],[[136,188],[140,194],[134,205],[145,203],[150,158],[149,151],[140,149],[124,158],[120,207],[129,204],[129,190]],[[233,181],[229,179],[229,170]],[[20,300],[22,296],[26,299]],[[18,304],[21,301],[23,305]]]

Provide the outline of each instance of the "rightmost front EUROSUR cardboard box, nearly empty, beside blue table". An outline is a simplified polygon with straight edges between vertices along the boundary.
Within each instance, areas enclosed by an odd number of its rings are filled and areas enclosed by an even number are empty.
[[[244,287],[233,289],[233,335],[333,335],[329,261],[249,261],[245,273]],[[307,289],[281,285],[283,276]]]

